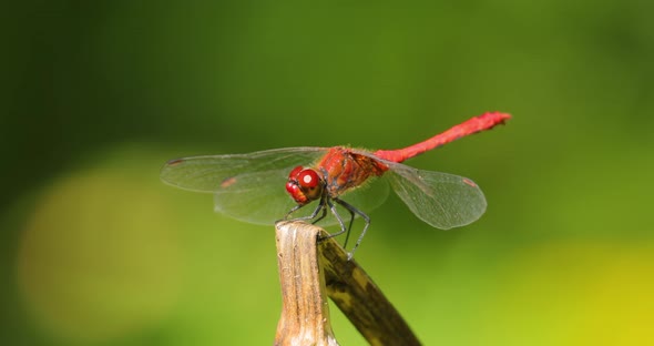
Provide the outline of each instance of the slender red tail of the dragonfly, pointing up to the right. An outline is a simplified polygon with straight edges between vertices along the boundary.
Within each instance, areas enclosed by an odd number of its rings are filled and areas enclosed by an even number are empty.
[[[479,116],[469,119],[443,133],[439,133],[429,140],[422,141],[418,144],[407,146],[398,150],[379,150],[375,152],[375,156],[391,162],[402,162],[411,159],[426,151],[439,147],[449,142],[456,141],[462,136],[473,134],[480,131],[490,130],[498,124],[503,124],[504,121],[511,119],[510,114],[500,112],[488,112]]]

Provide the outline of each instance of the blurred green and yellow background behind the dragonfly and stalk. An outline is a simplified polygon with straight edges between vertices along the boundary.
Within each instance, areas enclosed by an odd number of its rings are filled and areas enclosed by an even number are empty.
[[[164,185],[196,154],[395,149],[489,201],[449,232],[391,196],[357,261],[426,345],[654,343],[648,1],[27,1],[1,21],[7,345],[269,345],[272,226]],[[333,307],[343,345],[365,340]]]

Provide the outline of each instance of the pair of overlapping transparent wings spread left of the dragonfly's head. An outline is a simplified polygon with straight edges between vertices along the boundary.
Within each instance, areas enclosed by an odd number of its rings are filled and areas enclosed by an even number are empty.
[[[163,166],[161,179],[184,190],[214,193],[216,212],[255,224],[272,224],[296,205],[285,190],[288,173],[297,165],[313,164],[326,150],[288,147],[176,159]]]

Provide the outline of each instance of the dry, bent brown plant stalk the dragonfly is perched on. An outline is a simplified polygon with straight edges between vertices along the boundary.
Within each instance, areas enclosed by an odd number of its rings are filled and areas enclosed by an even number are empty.
[[[308,334],[324,335],[324,339],[333,338],[328,306],[325,302],[326,292],[370,345],[420,345],[379,287],[354,260],[347,261],[347,253],[334,238],[327,238],[328,233],[325,230],[297,221],[279,222],[276,228],[284,296],[276,340],[280,339],[280,333],[297,333],[302,329],[289,326],[289,322],[304,325],[305,328],[314,328],[314,332]],[[321,241],[316,243],[317,238]],[[283,248],[280,244],[286,246]],[[289,256],[293,261],[287,258]],[[300,268],[302,277],[292,278],[289,282],[284,277],[297,273],[293,266]],[[313,284],[307,285],[307,279]],[[298,287],[299,284],[311,289],[303,289]],[[315,288],[318,288],[318,292]],[[310,296],[299,296],[298,293]],[[295,301],[289,302],[292,299]],[[319,318],[321,322],[317,323]],[[314,323],[306,323],[307,320]]]

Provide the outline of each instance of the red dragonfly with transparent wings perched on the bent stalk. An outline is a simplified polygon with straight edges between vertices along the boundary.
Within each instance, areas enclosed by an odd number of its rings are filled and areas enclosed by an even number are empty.
[[[338,224],[339,231],[330,236],[347,233],[344,247],[359,216],[365,225],[348,253],[351,260],[370,225],[364,211],[379,206],[389,185],[416,216],[433,227],[449,230],[480,218],[487,201],[472,180],[402,162],[510,118],[487,112],[398,150],[303,146],[174,159],[163,166],[161,179],[184,190],[212,193],[216,212],[248,223],[268,225],[283,217]],[[305,208],[313,202],[317,202],[314,208]],[[327,211],[334,217],[326,217]]]

